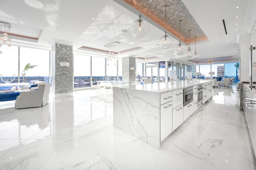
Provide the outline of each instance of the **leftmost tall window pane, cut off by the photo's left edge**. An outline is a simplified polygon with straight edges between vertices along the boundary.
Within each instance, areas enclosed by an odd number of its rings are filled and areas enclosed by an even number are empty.
[[[18,83],[18,47],[7,47],[2,45],[3,53],[0,55],[0,83],[10,82],[14,77],[12,83]]]

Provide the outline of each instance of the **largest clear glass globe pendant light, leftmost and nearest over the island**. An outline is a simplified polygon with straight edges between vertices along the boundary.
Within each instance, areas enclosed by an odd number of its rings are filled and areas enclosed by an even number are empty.
[[[141,1],[140,1],[141,3]],[[148,34],[148,23],[141,19],[141,12],[139,19],[132,24],[132,36],[135,38],[144,38]]]

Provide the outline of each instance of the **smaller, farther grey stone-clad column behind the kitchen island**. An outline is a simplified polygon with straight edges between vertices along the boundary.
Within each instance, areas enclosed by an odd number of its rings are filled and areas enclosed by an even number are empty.
[[[122,58],[122,82],[135,82],[135,57]]]

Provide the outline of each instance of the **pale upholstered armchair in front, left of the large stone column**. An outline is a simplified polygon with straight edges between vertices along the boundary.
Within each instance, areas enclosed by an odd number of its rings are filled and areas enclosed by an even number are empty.
[[[34,91],[21,91],[15,101],[15,109],[42,107],[45,84],[38,85]]]

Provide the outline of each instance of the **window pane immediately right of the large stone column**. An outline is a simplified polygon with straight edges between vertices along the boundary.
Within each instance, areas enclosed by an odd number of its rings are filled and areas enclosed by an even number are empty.
[[[91,57],[74,54],[74,88],[90,87]]]

